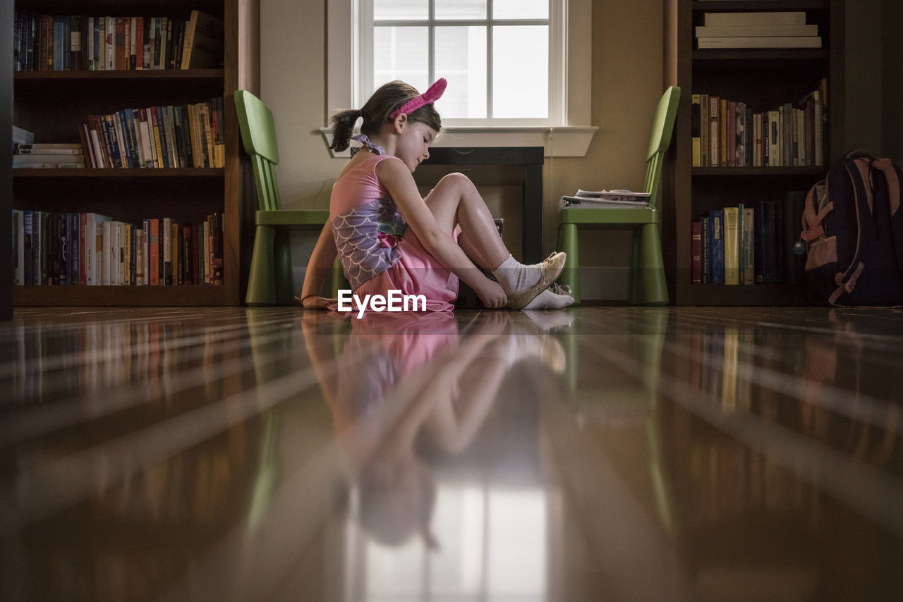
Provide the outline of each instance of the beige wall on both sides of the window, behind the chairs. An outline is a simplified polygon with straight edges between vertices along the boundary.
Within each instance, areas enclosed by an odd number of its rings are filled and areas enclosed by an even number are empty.
[[[662,26],[662,0],[593,2],[592,95],[586,102],[591,125],[600,130],[585,157],[545,160],[546,252],[554,248],[554,208],[563,194],[642,187],[649,119],[663,90]],[[326,1],[262,0],[261,31],[261,96],[279,131],[277,175],[284,207],[326,208],[342,165],[330,158],[319,133],[331,110],[339,108],[325,106]],[[504,202],[517,208],[516,201]],[[311,242],[295,239],[295,265],[306,261]],[[584,298],[626,299],[628,249],[626,233],[583,236]]]

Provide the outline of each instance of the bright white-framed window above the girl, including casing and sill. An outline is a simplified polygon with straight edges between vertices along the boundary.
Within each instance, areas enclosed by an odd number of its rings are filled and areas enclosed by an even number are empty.
[[[391,79],[423,91],[444,77],[437,145],[583,156],[598,129],[591,0],[330,0],[327,17],[328,114]]]

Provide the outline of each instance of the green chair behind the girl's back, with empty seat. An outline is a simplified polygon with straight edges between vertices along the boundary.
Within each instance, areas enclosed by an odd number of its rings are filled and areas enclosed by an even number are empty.
[[[254,251],[247,281],[247,305],[293,305],[292,249],[289,232],[319,230],[330,217],[329,209],[284,209],[279,199],[275,165],[279,163],[273,112],[247,90],[237,90],[235,106],[245,151],[254,164],[257,185]],[[338,269],[338,273],[336,270]],[[338,262],[333,266],[332,289],[342,288]],[[344,288],[348,288],[345,286]]]

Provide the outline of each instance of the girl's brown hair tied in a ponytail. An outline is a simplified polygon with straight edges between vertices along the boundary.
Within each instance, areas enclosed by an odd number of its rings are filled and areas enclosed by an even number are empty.
[[[393,111],[419,95],[420,92],[417,91],[417,88],[405,84],[404,81],[390,81],[380,86],[363,107],[336,111],[330,117],[332,127],[330,148],[334,151],[344,151],[348,148],[358,117],[364,119],[360,125],[360,132],[368,136],[375,135],[383,124],[391,121],[389,116]],[[428,125],[436,132],[442,130],[442,117],[439,116],[432,104],[412,111],[408,115],[408,119]]]

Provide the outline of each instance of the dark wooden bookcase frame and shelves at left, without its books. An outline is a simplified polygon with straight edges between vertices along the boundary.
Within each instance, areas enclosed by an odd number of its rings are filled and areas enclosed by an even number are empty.
[[[223,216],[223,285],[14,287],[14,305],[238,305],[247,281],[241,249],[247,246],[247,191],[253,175],[240,157],[233,92],[259,94],[259,0],[16,0],[16,9],[41,14],[172,16],[192,9],[224,22],[222,69],[16,71],[14,125],[35,142],[79,142],[89,114],[123,108],[184,105],[224,97],[225,168],[18,169],[13,207],[43,211],[92,211],[116,220],[143,218],[203,221]],[[256,203],[255,203],[256,205]],[[253,232],[253,229],[251,230]],[[243,236],[244,235],[244,236]]]

